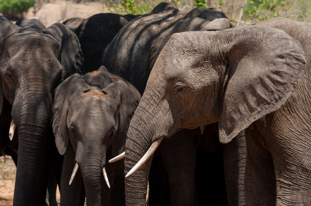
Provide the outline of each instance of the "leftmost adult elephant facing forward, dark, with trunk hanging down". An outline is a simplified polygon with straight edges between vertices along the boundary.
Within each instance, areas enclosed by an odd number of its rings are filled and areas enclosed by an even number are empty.
[[[6,101],[12,105],[12,125],[18,131],[13,205],[44,205],[49,152],[56,149],[54,89],[83,72],[83,57],[77,36],[63,24],[45,28],[39,20],[25,19],[16,24],[0,17],[0,108],[7,109],[2,108]]]

